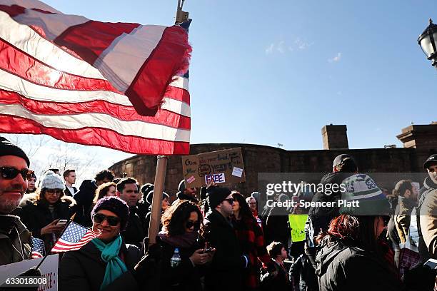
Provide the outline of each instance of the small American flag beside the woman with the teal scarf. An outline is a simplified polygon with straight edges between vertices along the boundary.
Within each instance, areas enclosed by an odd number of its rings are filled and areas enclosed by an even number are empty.
[[[51,249],[51,252],[69,252],[70,250],[79,250],[92,239],[97,238],[99,232],[84,228],[82,225],[71,222],[67,225],[61,238]]]

